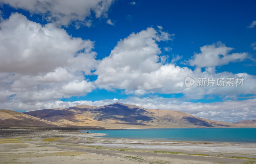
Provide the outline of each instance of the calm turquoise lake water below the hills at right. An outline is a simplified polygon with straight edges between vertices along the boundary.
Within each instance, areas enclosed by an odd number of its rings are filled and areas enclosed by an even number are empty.
[[[256,128],[168,128],[91,130],[108,138],[256,143]]]

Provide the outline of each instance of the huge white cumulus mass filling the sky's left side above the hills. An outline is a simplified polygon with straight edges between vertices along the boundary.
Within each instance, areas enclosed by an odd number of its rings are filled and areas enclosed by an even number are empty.
[[[93,46],[12,13],[0,23],[0,102],[36,104],[91,92],[95,85],[84,75],[98,63]]]

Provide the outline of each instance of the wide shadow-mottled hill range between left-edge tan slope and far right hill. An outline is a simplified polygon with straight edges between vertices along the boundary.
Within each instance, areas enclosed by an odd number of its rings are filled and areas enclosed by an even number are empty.
[[[132,127],[236,127],[236,124],[198,118],[186,112],[144,109],[136,105],[113,103],[105,106],[79,105],[66,109],[25,112],[44,120],[80,126]]]

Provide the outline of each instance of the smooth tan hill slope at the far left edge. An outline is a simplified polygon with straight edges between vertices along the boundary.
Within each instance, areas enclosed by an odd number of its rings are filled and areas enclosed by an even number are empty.
[[[51,121],[36,118],[17,111],[0,110],[0,125],[19,125],[19,126],[59,126]]]

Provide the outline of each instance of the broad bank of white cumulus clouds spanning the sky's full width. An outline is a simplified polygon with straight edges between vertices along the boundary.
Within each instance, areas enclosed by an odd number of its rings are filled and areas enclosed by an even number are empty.
[[[124,89],[126,94],[183,93],[188,99],[205,95],[253,94],[256,77],[246,73],[215,73],[213,67],[191,70],[174,63],[165,63],[160,41],[172,41],[174,34],[149,27],[120,40],[110,55],[95,60],[90,40],[73,38],[53,24],[40,25],[25,16],[13,13],[0,23],[0,101],[39,102],[81,96],[99,87],[108,90]],[[223,44],[201,47],[193,60],[207,63],[212,56],[216,63],[243,59],[246,53],[227,54],[232,48]],[[13,48],[15,47],[15,48]],[[223,57],[220,58],[219,55]],[[237,56],[239,56],[237,58]],[[215,58],[214,58],[215,57]],[[173,59],[174,60],[174,56]],[[215,63],[215,62],[212,62]],[[216,63],[214,65],[216,65]],[[207,65],[210,66],[210,65]],[[95,82],[84,75],[98,75]],[[185,87],[185,78],[244,78],[243,87]],[[207,85],[207,83],[206,83]]]

